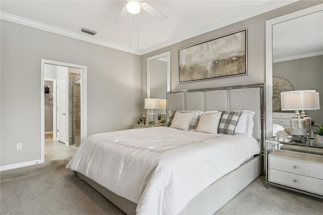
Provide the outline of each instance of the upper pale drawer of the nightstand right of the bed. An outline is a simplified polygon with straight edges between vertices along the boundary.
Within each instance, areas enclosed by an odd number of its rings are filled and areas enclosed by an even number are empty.
[[[323,165],[276,156],[270,156],[269,163],[271,169],[323,179]]]

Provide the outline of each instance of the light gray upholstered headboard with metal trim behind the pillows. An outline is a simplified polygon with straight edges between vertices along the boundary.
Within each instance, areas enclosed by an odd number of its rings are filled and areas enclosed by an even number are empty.
[[[265,148],[264,101],[264,84],[167,92],[168,111],[255,112],[253,137],[258,140],[262,156]]]

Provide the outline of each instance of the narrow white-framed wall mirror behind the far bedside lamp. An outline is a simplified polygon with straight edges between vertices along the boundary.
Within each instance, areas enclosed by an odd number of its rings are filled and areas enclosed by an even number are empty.
[[[170,51],[147,58],[147,98],[166,99],[167,91],[171,91]],[[156,113],[155,122],[157,123],[157,116],[163,109],[155,109],[153,111]],[[146,116],[148,115],[149,110],[147,110]]]

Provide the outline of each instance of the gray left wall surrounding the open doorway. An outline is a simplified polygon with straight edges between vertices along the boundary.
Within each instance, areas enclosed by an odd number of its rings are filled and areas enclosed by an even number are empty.
[[[87,134],[132,128],[140,57],[1,20],[1,166],[40,159],[40,59],[87,66]],[[18,87],[17,87],[18,86]],[[16,143],[23,143],[16,150]]]

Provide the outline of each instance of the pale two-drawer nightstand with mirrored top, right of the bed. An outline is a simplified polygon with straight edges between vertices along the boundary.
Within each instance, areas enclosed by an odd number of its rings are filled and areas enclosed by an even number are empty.
[[[323,145],[291,137],[266,140],[267,184],[323,198]]]

